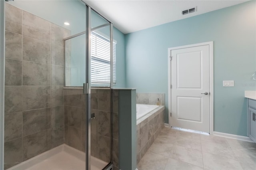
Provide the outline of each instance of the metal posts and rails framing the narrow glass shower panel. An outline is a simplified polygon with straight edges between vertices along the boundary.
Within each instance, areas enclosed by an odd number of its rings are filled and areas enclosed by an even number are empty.
[[[84,2],[83,0],[81,0]],[[112,122],[113,122],[113,117],[112,117],[112,88],[113,88],[113,24],[109,20],[107,20],[105,17],[100,15],[98,12],[93,10],[90,6],[88,6],[85,2],[84,4],[86,5],[86,31],[80,32],[78,34],[75,34],[73,36],[64,38],[64,44],[66,40],[70,40],[72,38],[81,36],[83,34],[86,34],[86,75],[85,75],[85,80],[86,82],[84,83],[84,94],[86,94],[86,113],[87,113],[87,129],[86,129],[86,170],[91,169],[91,32],[100,28],[103,28],[105,26],[110,26],[110,162],[108,165],[104,167],[104,169],[109,168],[112,165]],[[95,28],[91,28],[91,12],[92,10],[96,12],[99,16],[104,18],[108,24],[102,24],[100,26],[97,26]],[[65,48],[64,48],[65,50]],[[65,52],[64,52],[65,53]],[[64,66],[66,67],[66,66]],[[66,79],[66,75],[65,75]]]

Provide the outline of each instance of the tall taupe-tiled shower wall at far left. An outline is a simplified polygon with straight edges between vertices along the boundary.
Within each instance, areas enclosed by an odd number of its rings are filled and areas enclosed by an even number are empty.
[[[64,143],[70,31],[6,3],[4,168]]]

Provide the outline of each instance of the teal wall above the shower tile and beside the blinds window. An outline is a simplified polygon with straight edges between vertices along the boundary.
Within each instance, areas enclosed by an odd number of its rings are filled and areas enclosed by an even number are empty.
[[[71,30],[71,35],[78,34],[86,30],[86,7],[80,0],[15,0],[6,2],[22,10],[30,12],[36,16],[44,18],[54,24]],[[69,22],[70,26],[65,26],[64,22]],[[106,21],[92,11],[91,14],[92,28]],[[109,28],[109,27],[108,27]],[[102,30],[102,29],[101,29]],[[104,34],[109,36],[109,32]],[[72,42],[72,65],[77,67],[78,72],[74,70],[72,76],[73,86],[82,86],[81,82],[85,81],[85,54],[82,49],[84,38],[80,37]],[[124,34],[118,29],[113,30],[113,39],[116,40],[116,85],[114,87],[126,87],[125,78],[125,48]],[[81,50],[82,49],[82,50]],[[76,73],[75,73],[76,72]],[[79,75],[77,73],[80,73]]]

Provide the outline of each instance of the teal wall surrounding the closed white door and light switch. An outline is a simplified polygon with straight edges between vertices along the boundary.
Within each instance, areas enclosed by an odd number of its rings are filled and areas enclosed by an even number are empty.
[[[168,48],[214,42],[214,131],[247,136],[245,90],[256,90],[256,2],[126,34],[126,87],[165,93]],[[222,87],[234,80],[234,87]],[[165,115],[168,123],[168,113]]]

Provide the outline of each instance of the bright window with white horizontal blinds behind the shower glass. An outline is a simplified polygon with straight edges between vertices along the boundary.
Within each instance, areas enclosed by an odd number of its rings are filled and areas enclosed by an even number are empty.
[[[110,84],[110,40],[92,32],[91,82],[93,85]],[[116,43],[113,42],[113,82],[116,84]]]

